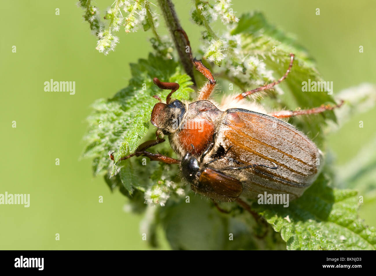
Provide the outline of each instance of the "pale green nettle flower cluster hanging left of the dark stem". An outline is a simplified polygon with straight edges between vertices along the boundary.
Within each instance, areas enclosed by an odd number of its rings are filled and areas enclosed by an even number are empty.
[[[116,0],[104,16],[104,19],[108,21],[107,25],[100,21],[99,10],[91,5],[91,0],[80,0],[78,5],[85,10],[83,17],[98,38],[96,49],[104,54],[114,51],[119,42],[115,33],[121,27],[126,33],[130,33],[136,32],[139,25],[144,26],[146,30],[151,24],[154,29],[154,25],[158,23],[157,15],[150,11],[147,0]]]

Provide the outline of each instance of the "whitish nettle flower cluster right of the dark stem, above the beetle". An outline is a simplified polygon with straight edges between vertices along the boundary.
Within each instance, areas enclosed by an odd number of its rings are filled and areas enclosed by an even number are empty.
[[[267,70],[266,64],[258,56],[251,56],[249,51],[244,49],[241,35],[231,34],[239,18],[230,8],[230,2],[216,0],[212,3],[196,0],[192,19],[196,24],[205,27],[202,32],[205,43],[201,47],[203,58],[218,66],[224,65],[222,71],[246,86],[262,85],[267,80],[273,80],[273,71]],[[210,27],[211,23],[218,19],[226,26],[226,31],[220,36]]]

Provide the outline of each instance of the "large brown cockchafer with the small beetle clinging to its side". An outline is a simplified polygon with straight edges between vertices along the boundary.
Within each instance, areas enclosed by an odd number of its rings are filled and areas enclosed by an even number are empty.
[[[178,31],[190,48],[185,32]],[[240,195],[255,199],[264,192],[289,194],[290,200],[301,196],[316,179],[316,162],[322,154],[305,134],[281,119],[332,110],[343,102],[268,113],[255,103],[243,101],[248,95],[272,89],[283,81],[293,66],[294,54],[290,54],[288,69],[279,80],[229,96],[219,105],[209,100],[216,84],[213,75],[200,60],[193,59],[191,51],[189,55],[196,69],[209,80],[199,91],[197,101],[172,100],[179,84],[154,78],[161,89],[171,89],[165,104],[154,96],[159,103],[153,108],[151,122],[158,128],[157,140],[147,141],[134,154],[121,159],[144,155],[151,160],[180,164],[183,178],[192,190],[215,200],[234,201]],[[163,142],[159,136],[164,135],[181,160],[146,151]]]

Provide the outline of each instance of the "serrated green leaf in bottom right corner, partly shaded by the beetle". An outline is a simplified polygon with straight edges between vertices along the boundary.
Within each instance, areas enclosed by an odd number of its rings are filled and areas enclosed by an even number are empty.
[[[253,208],[280,232],[287,249],[376,249],[376,230],[364,226],[357,217],[357,192],[332,189],[328,182],[321,174],[287,208],[261,204],[254,204]]]

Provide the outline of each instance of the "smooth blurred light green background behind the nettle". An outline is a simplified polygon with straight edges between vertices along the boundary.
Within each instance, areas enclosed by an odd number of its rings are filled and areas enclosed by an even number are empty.
[[[191,1],[173,2],[192,47],[197,48],[200,28],[190,21]],[[376,82],[376,2],[232,3],[239,16],[257,9],[270,23],[296,34],[317,60],[324,79],[334,82],[334,93]],[[111,4],[97,1],[101,11]],[[96,38],[74,2],[6,1],[2,10],[0,193],[29,193],[30,207],[0,205],[0,249],[148,249],[139,233],[141,216],[126,213],[126,198],[112,194],[102,178],[93,178],[91,160],[79,157],[89,105],[127,85],[128,64],[151,51],[150,32],[120,32],[116,51],[104,56],[95,50]],[[159,33],[167,31],[160,28]],[[17,53],[12,53],[13,45]],[[359,45],[364,53],[359,53]],[[51,78],[76,81],[76,94],[44,92],[44,81]],[[360,114],[328,137],[337,164],[345,164],[374,139],[375,116],[376,109]],[[360,120],[364,128],[359,128]],[[12,128],[12,121],[17,128]],[[368,225],[376,226],[375,208],[374,203],[361,207]],[[163,238],[161,248],[168,249]]]

